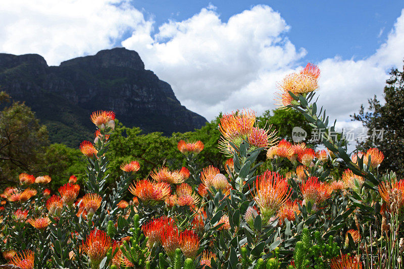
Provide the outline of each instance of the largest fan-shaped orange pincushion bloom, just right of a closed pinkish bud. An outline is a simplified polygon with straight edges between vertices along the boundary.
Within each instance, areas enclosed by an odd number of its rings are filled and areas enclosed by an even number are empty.
[[[277,172],[265,171],[259,176],[252,192],[254,200],[260,207],[263,222],[267,223],[273,214],[289,198],[291,191],[281,175]]]

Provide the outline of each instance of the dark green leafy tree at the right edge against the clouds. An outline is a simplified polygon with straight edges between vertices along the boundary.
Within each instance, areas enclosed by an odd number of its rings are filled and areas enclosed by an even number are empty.
[[[385,103],[376,96],[369,99],[368,110],[362,105],[358,114],[351,116],[369,128],[368,139],[359,143],[360,150],[377,147],[384,154],[381,171],[387,169],[404,175],[404,72],[392,69],[384,87]],[[383,138],[375,137],[373,130],[383,130]]]

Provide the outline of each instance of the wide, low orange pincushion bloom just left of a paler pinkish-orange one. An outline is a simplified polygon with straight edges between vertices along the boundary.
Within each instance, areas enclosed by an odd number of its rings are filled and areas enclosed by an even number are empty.
[[[129,191],[143,202],[164,201],[171,193],[170,185],[165,182],[150,182],[146,179],[139,180],[129,186]]]

